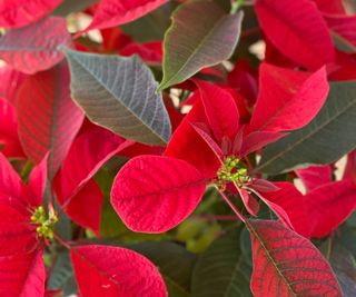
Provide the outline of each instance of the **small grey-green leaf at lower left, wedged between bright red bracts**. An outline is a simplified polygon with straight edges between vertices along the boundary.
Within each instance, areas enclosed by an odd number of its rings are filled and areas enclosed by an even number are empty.
[[[68,251],[61,251],[58,254],[58,258],[50,275],[48,288],[60,288],[63,290],[66,296],[77,294],[73,269]]]

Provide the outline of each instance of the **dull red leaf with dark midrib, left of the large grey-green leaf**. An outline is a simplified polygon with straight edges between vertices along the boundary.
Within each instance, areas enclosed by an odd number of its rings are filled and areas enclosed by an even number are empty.
[[[28,77],[18,93],[17,112],[23,150],[34,164],[49,152],[53,177],[83,120],[70,98],[67,65]]]

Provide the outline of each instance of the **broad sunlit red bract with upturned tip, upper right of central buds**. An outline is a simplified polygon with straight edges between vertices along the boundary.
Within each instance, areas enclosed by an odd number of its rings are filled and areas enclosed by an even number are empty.
[[[307,125],[320,110],[329,91],[325,68],[314,73],[264,63],[251,130],[285,131]]]

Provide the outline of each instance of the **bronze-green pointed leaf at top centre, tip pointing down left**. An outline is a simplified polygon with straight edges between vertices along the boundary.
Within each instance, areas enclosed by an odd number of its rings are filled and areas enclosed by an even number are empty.
[[[162,90],[228,59],[240,34],[243,12],[227,14],[212,1],[187,1],[165,36]]]

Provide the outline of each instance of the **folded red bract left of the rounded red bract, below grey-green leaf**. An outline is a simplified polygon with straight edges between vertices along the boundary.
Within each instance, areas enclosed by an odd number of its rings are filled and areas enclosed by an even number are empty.
[[[99,232],[102,194],[91,178],[107,160],[131,143],[96,127],[71,145],[57,177],[56,189],[59,202],[79,225]]]

